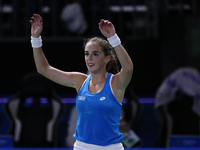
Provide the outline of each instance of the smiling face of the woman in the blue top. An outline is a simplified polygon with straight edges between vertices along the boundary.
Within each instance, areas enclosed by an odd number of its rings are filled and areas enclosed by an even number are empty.
[[[106,71],[110,56],[105,56],[97,42],[88,42],[85,46],[85,63],[91,73]]]

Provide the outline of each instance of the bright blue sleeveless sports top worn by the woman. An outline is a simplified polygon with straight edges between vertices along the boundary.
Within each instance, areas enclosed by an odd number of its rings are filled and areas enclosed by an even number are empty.
[[[111,90],[108,73],[103,89],[96,94],[89,92],[91,75],[85,80],[76,96],[78,120],[73,138],[95,145],[119,143],[123,139],[119,132],[122,105]]]

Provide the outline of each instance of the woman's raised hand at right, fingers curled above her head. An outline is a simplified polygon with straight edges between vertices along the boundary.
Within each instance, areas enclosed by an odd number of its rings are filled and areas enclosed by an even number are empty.
[[[101,33],[106,37],[106,38],[110,38],[113,35],[115,35],[115,27],[114,25],[108,21],[108,20],[104,20],[101,19],[100,23],[99,23],[99,29],[101,31]]]

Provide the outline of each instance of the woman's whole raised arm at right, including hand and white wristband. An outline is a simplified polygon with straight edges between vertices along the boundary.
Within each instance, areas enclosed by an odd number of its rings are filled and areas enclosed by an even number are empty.
[[[115,27],[110,21],[101,19],[99,23],[99,29],[101,33],[108,39],[112,47],[114,47],[119,62],[121,64],[122,69],[113,78],[115,78],[116,80],[115,82],[115,85],[117,86],[116,93],[121,93],[119,92],[119,90],[121,90],[123,93],[132,77],[132,72],[133,72],[132,60],[129,57],[125,48],[122,46],[121,41],[115,32]]]

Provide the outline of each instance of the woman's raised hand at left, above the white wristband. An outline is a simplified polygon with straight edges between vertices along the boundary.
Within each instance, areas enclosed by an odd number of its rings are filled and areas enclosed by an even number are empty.
[[[33,14],[31,20],[31,36],[38,38],[43,29],[42,17],[39,14]]]

